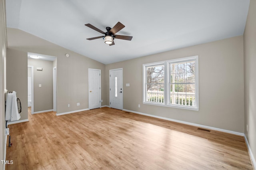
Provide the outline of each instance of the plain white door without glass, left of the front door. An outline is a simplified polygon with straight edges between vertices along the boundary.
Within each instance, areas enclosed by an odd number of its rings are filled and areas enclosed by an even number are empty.
[[[89,109],[100,108],[101,90],[100,90],[100,70],[88,69],[89,72]]]

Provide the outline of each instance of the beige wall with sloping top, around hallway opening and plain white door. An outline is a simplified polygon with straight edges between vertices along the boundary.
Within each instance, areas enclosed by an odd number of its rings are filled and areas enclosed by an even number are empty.
[[[57,113],[88,109],[88,68],[104,71],[104,64],[22,30],[7,28],[7,36],[8,47],[20,51],[20,54],[16,55],[17,59],[27,57],[27,52],[57,57]],[[65,53],[69,53],[70,57],[66,57]],[[11,69],[15,66],[10,64],[7,67]],[[21,85],[26,86],[27,89],[27,74],[21,79]],[[105,87],[104,75],[102,75],[101,82],[102,87]],[[105,93],[105,88],[102,88],[102,105],[106,105]],[[27,94],[24,97],[27,101]],[[80,103],[80,106],[76,106],[76,103]]]

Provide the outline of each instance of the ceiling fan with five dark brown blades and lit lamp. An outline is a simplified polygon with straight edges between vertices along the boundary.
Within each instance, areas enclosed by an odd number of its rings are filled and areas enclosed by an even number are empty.
[[[104,36],[99,36],[99,37],[93,37],[93,38],[87,38],[87,40],[95,40],[98,38],[103,38],[106,44],[109,45],[115,45],[114,39],[121,39],[121,40],[132,40],[132,36],[121,36],[121,35],[115,35],[118,31],[122,30],[125,26],[121,23],[118,22],[113,28],[106,27],[107,32],[103,32],[102,30],[94,27],[91,24],[84,24],[85,26],[88,26],[89,28],[92,28],[95,31],[100,32],[101,34],[104,34]]]

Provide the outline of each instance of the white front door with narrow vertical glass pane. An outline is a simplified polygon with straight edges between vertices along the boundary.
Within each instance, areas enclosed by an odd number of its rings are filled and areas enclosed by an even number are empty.
[[[110,107],[123,109],[123,69],[110,70]]]

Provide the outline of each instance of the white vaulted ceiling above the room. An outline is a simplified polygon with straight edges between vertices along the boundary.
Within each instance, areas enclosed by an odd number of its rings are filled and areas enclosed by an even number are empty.
[[[250,0],[6,0],[7,27],[108,64],[244,33]],[[86,40],[117,22],[132,41]]]

